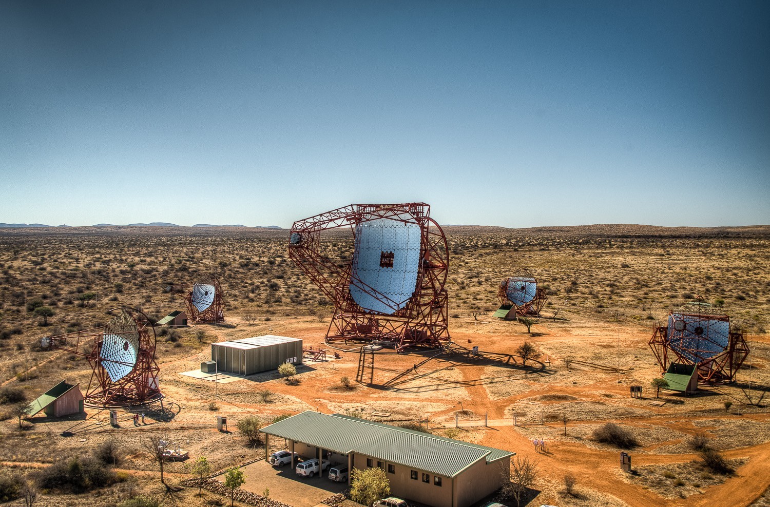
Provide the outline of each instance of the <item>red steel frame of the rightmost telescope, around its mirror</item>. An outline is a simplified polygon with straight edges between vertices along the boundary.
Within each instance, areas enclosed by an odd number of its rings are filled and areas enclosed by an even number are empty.
[[[692,312],[670,312],[669,315],[674,315],[675,313],[696,318],[702,322],[730,322],[730,318],[727,315],[705,315]],[[669,332],[671,330],[668,328],[668,325],[658,326],[648,342],[652,353],[655,355],[655,359],[658,359],[658,364],[661,365],[661,373],[666,372],[671,362],[678,362],[686,365],[695,365],[698,369],[698,379],[701,381],[730,383],[735,381],[735,374],[741,368],[746,357],[748,357],[749,349],[742,332],[730,332],[728,344],[723,352],[711,355],[697,362],[691,358],[700,355],[701,350],[698,349],[698,346],[691,345],[688,349],[678,350],[670,345],[671,336],[669,336]],[[708,329],[705,336],[708,336]],[[696,340],[692,342],[697,344]],[[691,357],[688,357],[688,355]]]

